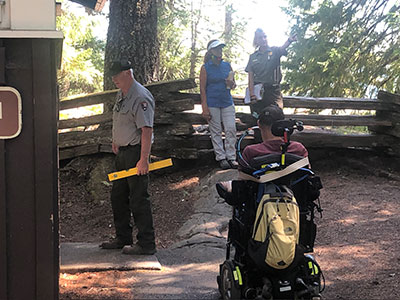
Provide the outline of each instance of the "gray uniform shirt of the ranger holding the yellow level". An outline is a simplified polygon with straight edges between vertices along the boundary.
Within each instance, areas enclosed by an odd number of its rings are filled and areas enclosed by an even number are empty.
[[[113,109],[113,142],[118,146],[140,144],[141,128],[153,127],[153,122],[153,95],[134,80],[125,97],[121,91],[117,94]]]

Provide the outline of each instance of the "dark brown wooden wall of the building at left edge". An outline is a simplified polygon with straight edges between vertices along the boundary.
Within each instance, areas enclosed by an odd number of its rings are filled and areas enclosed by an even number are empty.
[[[0,139],[0,299],[58,299],[58,38],[0,38],[22,131]]]

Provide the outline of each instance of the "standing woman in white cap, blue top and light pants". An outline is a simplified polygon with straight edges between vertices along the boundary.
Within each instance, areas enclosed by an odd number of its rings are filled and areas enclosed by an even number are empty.
[[[207,45],[204,64],[200,70],[200,97],[203,117],[208,121],[215,159],[222,169],[237,168],[235,106],[231,89],[236,87],[231,65],[222,59],[219,40]],[[222,124],[225,147],[222,141]]]

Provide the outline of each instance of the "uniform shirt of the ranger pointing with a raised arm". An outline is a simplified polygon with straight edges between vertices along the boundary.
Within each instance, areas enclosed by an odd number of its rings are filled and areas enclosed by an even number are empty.
[[[287,55],[287,51],[281,47],[268,48],[265,52],[257,50],[250,55],[245,71],[254,73],[254,84],[278,85],[282,80],[283,55]]]

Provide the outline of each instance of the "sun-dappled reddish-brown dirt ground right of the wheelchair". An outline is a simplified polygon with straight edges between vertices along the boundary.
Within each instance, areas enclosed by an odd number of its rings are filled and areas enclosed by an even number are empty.
[[[322,172],[316,256],[326,299],[400,299],[399,182]]]

